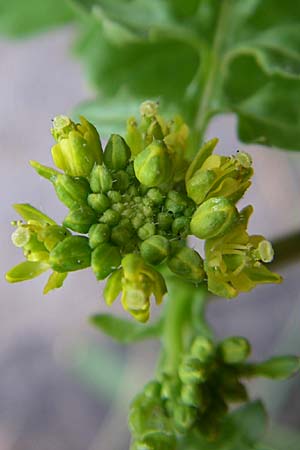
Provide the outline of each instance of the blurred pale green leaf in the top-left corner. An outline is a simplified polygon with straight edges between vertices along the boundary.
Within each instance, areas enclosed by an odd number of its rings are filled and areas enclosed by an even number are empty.
[[[0,0],[0,34],[24,37],[73,19],[66,0]]]

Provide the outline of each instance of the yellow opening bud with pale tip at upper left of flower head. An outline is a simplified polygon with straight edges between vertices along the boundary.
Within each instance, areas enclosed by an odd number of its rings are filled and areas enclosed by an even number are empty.
[[[55,117],[52,134],[58,143],[52,147],[52,157],[67,175],[88,177],[94,164],[102,162],[102,148],[95,127],[84,117],[80,120],[81,124],[74,124],[68,117]]]

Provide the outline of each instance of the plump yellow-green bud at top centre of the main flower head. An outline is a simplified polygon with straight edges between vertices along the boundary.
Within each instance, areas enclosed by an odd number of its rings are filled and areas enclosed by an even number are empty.
[[[148,145],[134,160],[134,170],[140,183],[148,187],[168,183],[172,176],[172,161],[161,142]]]

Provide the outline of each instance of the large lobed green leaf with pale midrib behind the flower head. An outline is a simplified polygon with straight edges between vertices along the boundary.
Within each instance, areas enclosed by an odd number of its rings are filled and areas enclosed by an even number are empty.
[[[212,115],[235,113],[244,142],[300,149],[298,2],[94,0],[86,11],[76,49],[108,99],[159,98],[202,138]]]

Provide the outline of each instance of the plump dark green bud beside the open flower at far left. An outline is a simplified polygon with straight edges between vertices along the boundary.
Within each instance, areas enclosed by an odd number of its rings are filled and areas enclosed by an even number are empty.
[[[72,272],[91,264],[89,240],[84,236],[70,236],[59,242],[50,252],[49,264],[56,272]]]

